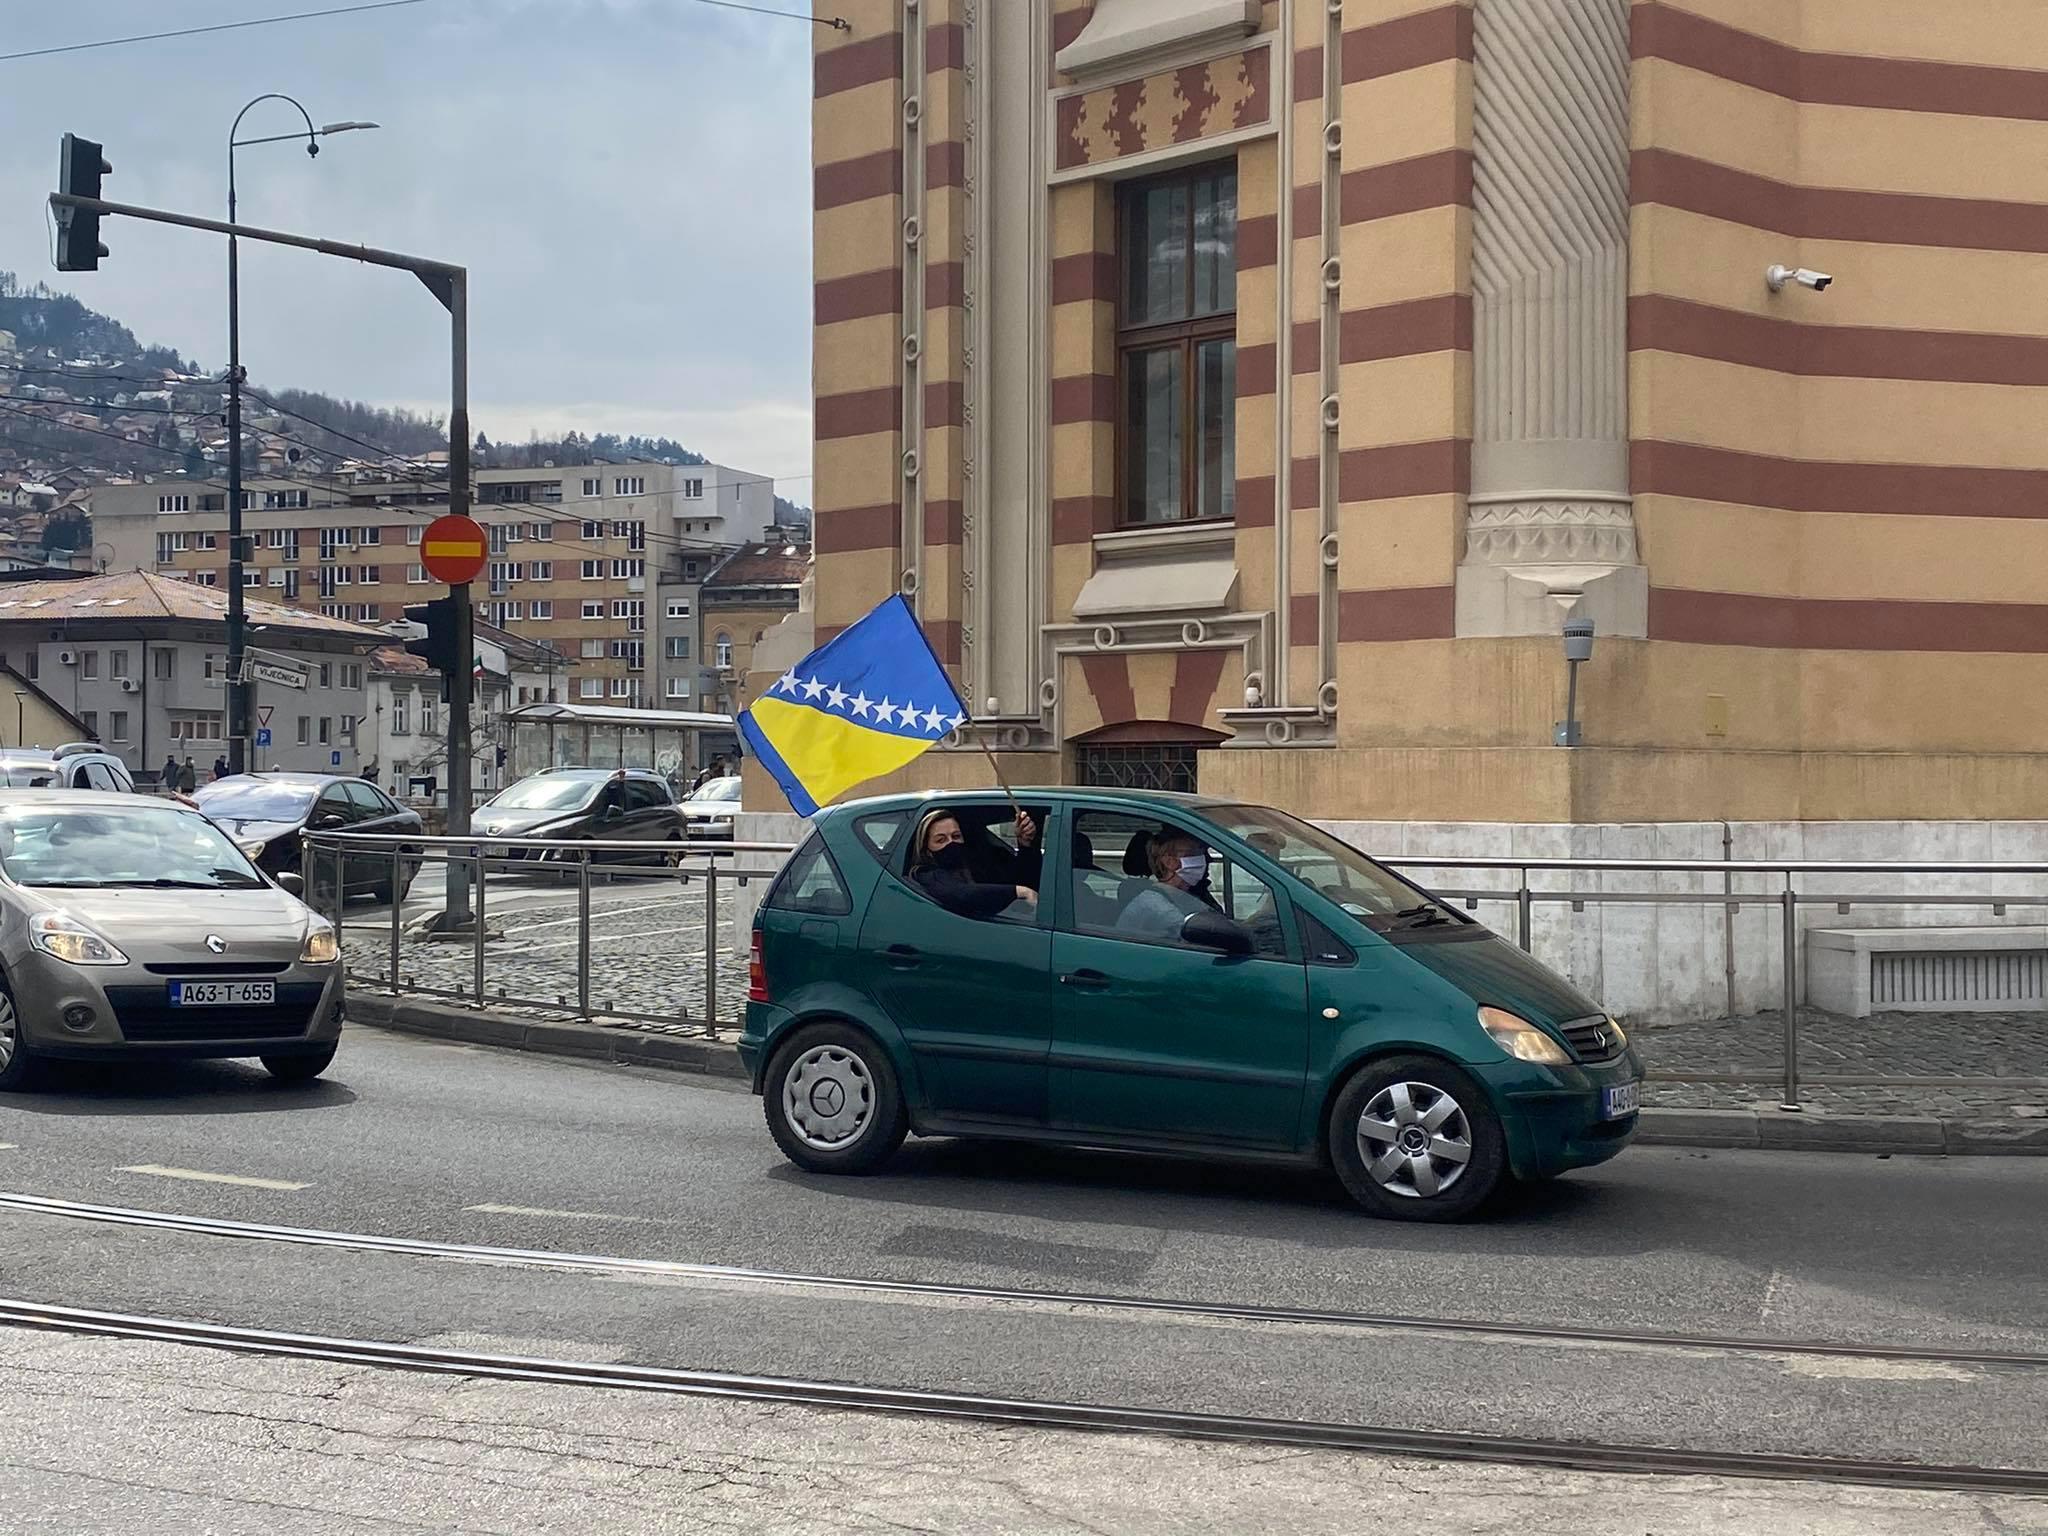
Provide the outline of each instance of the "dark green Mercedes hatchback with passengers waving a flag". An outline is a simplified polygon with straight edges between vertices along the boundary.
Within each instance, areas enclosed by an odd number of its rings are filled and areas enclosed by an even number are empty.
[[[799,1167],[1012,1137],[1327,1163],[1374,1214],[1454,1221],[1634,1137],[1622,1028],[1350,844],[1264,805],[1018,795],[829,807],[770,887],[739,1055]]]

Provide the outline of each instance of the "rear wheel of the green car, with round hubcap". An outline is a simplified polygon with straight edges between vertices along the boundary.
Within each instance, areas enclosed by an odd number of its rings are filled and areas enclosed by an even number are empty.
[[[866,1174],[909,1128],[889,1055],[846,1024],[813,1024],[776,1051],[762,1106],[782,1155],[813,1174]]]

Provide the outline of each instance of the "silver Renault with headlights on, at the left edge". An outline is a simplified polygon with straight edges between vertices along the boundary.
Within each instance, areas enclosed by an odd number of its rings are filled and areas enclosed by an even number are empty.
[[[334,926],[176,801],[0,791],[0,1090],[43,1061],[334,1061]]]

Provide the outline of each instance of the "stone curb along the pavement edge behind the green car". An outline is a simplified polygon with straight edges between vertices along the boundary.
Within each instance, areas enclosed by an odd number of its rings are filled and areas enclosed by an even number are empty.
[[[725,1040],[547,1022],[475,1008],[348,993],[350,1024],[424,1034],[436,1040],[494,1044],[623,1067],[666,1067],[745,1081],[739,1051]],[[1642,1110],[1638,1147],[1712,1147],[1749,1151],[1911,1153],[1919,1157],[2048,1157],[2048,1120],[1942,1120],[1909,1114],[1829,1114],[1804,1110]]]

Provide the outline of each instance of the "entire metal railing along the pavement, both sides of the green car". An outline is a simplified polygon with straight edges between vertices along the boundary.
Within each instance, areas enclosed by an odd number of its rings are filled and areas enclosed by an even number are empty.
[[[434,985],[403,973],[403,915],[401,903],[391,903],[387,963],[383,975],[371,977],[395,993],[446,997],[467,1001],[475,1008],[492,1004],[512,1004],[541,1012],[561,1012],[573,1018],[616,1018],[637,1024],[657,1024],[686,1028],[702,1034],[737,1028],[735,1020],[719,1018],[719,961],[721,961],[721,887],[748,887],[754,881],[770,881],[778,872],[782,858],[793,852],[793,844],[782,842],[563,842],[547,838],[428,838],[428,836],[365,836],[365,834],[311,834],[305,840],[303,881],[307,899],[338,920],[340,881],[319,881],[326,860],[346,858],[350,864],[375,858],[389,864],[387,883],[399,891],[408,883],[408,866],[432,862],[465,864],[475,893],[475,922],[465,930],[471,946],[471,975],[467,987]],[[502,850],[502,852],[500,852]],[[649,854],[664,860],[659,868],[645,862]],[[741,864],[737,856],[756,854],[754,862]],[[537,858],[539,856],[539,858]],[[1802,1085],[1864,1087],[1864,1085],[1987,1085],[2007,1087],[2048,1087],[2048,1077],[1923,1077],[1890,1073],[1812,1073],[1800,1071],[1800,913],[1833,907],[1837,913],[1851,913],[1858,907],[1976,907],[1989,909],[1993,918],[2003,918],[2011,907],[2048,909],[2048,862],[1929,862],[1929,860],[1714,860],[1714,858],[1489,858],[1458,854],[1403,854],[1382,858],[1382,864],[1397,870],[1419,872],[1501,872],[1513,885],[1491,887],[1444,887],[1425,885],[1432,895],[1444,901],[1458,901],[1466,909],[1481,903],[1511,905],[1516,913],[1516,942],[1524,950],[1534,950],[1536,909],[1544,905],[1567,905],[1585,911],[1591,905],[1690,905],[1720,907],[1724,911],[1729,940],[1729,1012],[1735,1012],[1735,963],[1733,924],[1743,909],[1776,911],[1780,946],[1780,1016],[1784,1026],[1780,1069],[1774,1071],[1681,1071],[1657,1073],[1661,1077],[1694,1083],[1776,1083],[1782,1090],[1786,1108],[1800,1106]],[[575,995],[526,997],[492,989],[487,971],[487,874],[496,870],[522,874],[557,874],[575,881]],[[1561,885],[1546,887],[1532,883],[1532,877],[1556,877]],[[1645,891],[1645,889],[1602,889],[1599,883],[1616,874],[1681,874],[1706,877],[1718,889],[1700,891]],[[2025,883],[2025,891],[1847,891],[1853,877],[1880,877],[1905,881],[1913,877],[1935,879],[1987,879]],[[688,1008],[676,1012],[649,1012],[616,1008],[614,999],[600,999],[592,989],[592,885],[608,879],[651,879],[678,885],[690,891],[702,885],[702,938],[705,938],[705,999],[696,1014]],[[1739,883],[1747,889],[1739,889]],[[1802,889],[1812,887],[1812,889]],[[449,938],[440,942],[461,942]],[[737,944],[733,952],[737,952]]]

